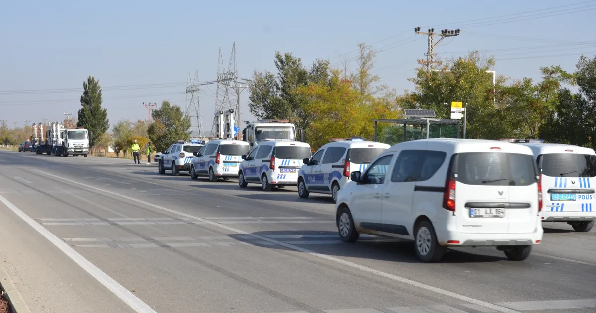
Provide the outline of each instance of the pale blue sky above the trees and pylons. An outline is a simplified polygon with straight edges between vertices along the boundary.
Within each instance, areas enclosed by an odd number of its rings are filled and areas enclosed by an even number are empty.
[[[560,7],[569,4],[576,5]],[[547,8],[553,9],[542,10]],[[254,69],[274,70],[275,51],[291,52],[305,64],[330,58],[339,65],[338,55],[352,51],[347,57],[354,57],[356,44],[366,42],[383,50],[375,70],[383,83],[411,89],[406,79],[426,52],[426,37],[414,36],[416,26],[462,30],[437,47],[439,57],[481,49],[495,55],[497,73],[539,78],[541,66],[573,70],[580,54],[596,54],[595,9],[596,1],[586,0],[4,0],[0,120],[22,126],[24,120],[76,115],[88,75],[104,88],[112,125],[122,118],[147,119],[142,102],[168,99],[184,107],[188,73],[198,70],[200,80],[215,80],[218,48],[227,62],[234,41],[241,78],[250,78]],[[535,12],[517,14],[527,11]],[[152,86],[120,87],[131,85]],[[34,91],[14,92],[23,90]],[[201,96],[206,131],[213,92],[215,85]],[[250,118],[247,101],[243,92],[243,120]]]

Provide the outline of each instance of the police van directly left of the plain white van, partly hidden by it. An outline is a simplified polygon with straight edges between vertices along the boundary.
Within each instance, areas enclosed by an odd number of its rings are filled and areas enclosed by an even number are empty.
[[[337,193],[350,180],[350,173],[364,171],[368,164],[389,144],[364,141],[362,138],[330,138],[310,159],[304,160],[298,173],[298,195],[308,198],[311,193]]]

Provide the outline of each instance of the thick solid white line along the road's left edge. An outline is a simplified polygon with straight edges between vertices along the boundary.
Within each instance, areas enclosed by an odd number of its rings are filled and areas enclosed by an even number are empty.
[[[138,313],[157,313],[154,309],[147,305],[147,303],[142,302],[141,299],[136,297],[129,292],[128,289],[123,287],[119,284],[116,280],[105,274],[105,272],[101,271],[100,268],[93,265],[87,259],[83,258],[82,255],[77,253],[74,249],[69,247],[68,244],[64,243],[60,238],[56,237],[54,234],[50,233],[46,230],[42,225],[36,222],[34,219],[30,218],[29,215],[26,215],[23,211],[18,209],[13,203],[8,201],[5,197],[0,196],[0,202],[4,203],[9,209],[11,209],[16,215],[18,215],[23,221],[29,224],[33,229],[38,231],[39,234],[44,236],[49,242],[54,244],[60,251],[62,251],[65,255],[67,255],[70,259],[76,262],[81,268],[85,269],[86,272],[91,274],[97,281],[103,284],[108,290],[110,290],[114,295],[122,299],[126,304],[128,304],[135,312]]]

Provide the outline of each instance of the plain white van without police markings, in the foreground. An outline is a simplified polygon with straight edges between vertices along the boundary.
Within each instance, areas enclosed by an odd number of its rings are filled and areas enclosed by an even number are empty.
[[[493,140],[426,139],[389,148],[340,191],[343,241],[361,233],[415,241],[418,258],[448,247],[493,246],[526,259],[542,240],[541,193],[532,150]]]

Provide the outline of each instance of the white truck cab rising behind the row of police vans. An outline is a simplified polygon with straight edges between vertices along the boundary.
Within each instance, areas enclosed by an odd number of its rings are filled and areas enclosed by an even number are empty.
[[[256,123],[249,123],[243,129],[242,138],[244,141],[249,142],[251,147],[254,147],[263,140],[296,141],[296,126],[290,123],[290,120],[259,120]],[[302,131],[300,131],[300,141],[304,141]]]

